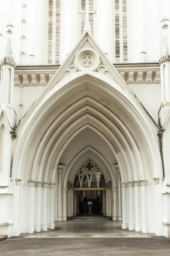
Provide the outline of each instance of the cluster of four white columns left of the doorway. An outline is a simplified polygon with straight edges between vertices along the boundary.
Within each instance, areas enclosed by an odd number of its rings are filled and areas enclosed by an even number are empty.
[[[55,183],[41,182],[41,181],[28,181],[30,187],[30,212],[29,212],[29,225],[28,233],[34,233],[34,197],[36,190],[36,218],[35,218],[35,231],[45,231],[48,228],[47,223],[47,196],[48,186],[50,187],[50,221],[49,228],[54,229],[54,187]],[[43,189],[43,193],[41,193]],[[41,210],[41,194],[43,194],[43,206]],[[42,215],[41,215],[42,214]]]

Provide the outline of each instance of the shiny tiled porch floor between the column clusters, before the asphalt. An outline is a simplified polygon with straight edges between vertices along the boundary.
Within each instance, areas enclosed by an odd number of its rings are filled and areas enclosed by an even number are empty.
[[[140,232],[122,230],[122,222],[70,220],[56,222],[54,231],[34,233],[25,238],[150,238]]]

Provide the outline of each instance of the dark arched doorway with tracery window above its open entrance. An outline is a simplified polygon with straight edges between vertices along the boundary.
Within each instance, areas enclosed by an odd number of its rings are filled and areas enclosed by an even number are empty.
[[[74,216],[106,216],[105,177],[93,161],[86,161],[78,170],[73,191]]]

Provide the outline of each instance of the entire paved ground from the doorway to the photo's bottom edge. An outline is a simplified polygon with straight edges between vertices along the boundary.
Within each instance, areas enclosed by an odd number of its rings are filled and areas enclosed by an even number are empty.
[[[0,256],[170,255],[170,240],[121,230],[120,225],[113,221],[59,222],[55,231],[23,234],[1,242]]]

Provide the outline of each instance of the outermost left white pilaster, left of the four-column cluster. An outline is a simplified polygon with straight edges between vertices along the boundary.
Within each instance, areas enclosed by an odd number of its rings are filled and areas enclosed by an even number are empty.
[[[21,180],[16,179],[15,186],[15,221],[14,221],[14,236],[20,236],[20,184]]]

